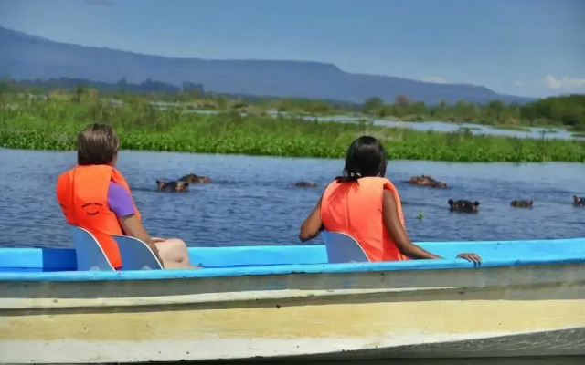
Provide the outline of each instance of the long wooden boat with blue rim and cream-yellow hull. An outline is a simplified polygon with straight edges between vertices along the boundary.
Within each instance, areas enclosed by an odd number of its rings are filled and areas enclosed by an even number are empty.
[[[463,259],[326,264],[323,245],[190,248],[201,270],[76,271],[0,249],[0,360],[585,355],[585,238],[432,242]]]

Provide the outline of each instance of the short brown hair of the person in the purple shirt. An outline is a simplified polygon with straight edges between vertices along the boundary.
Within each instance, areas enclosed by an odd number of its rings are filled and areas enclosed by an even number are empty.
[[[120,150],[120,139],[108,124],[93,123],[77,137],[79,165],[107,165]]]

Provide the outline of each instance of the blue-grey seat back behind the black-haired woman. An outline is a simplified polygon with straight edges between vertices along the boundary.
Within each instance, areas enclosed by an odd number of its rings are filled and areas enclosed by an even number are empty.
[[[322,235],[329,264],[369,262],[366,253],[351,235],[326,230]]]

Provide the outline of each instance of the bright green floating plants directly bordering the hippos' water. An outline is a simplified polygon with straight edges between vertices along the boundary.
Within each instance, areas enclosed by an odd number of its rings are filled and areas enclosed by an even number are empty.
[[[0,106],[0,146],[74,150],[77,133],[90,122],[112,124],[122,149],[288,157],[344,157],[357,136],[380,139],[389,159],[447,162],[585,162],[582,141],[524,140],[373,126],[306,121],[237,112],[204,115],[187,109],[158,110],[147,103],[112,107],[100,101],[21,102]]]

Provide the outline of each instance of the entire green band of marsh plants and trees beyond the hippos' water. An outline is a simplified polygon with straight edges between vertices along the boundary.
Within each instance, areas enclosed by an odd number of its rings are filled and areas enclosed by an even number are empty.
[[[417,131],[375,126],[371,119],[375,115],[388,118],[401,114],[417,116],[418,120],[430,116],[434,120],[469,123],[484,115],[488,117],[483,124],[500,129],[524,130],[527,124],[542,123],[541,126],[560,125],[580,131],[585,130],[585,96],[581,95],[542,99],[522,106],[495,100],[483,106],[459,102],[455,106],[426,107],[406,97],[397,98],[394,104],[370,98],[355,106],[320,100],[230,99],[208,95],[199,87],[180,93],[121,93],[80,85],[68,89],[51,84],[42,89],[3,82],[0,147],[5,148],[75,150],[79,130],[90,122],[104,121],[117,130],[124,150],[341,158],[351,141],[369,134],[383,142],[392,160],[585,162],[583,141],[473,135],[464,128],[451,133]],[[268,115],[270,110],[276,110],[275,115]],[[389,114],[383,110],[389,110]],[[447,113],[456,118],[444,118]],[[302,118],[340,114],[369,116],[370,120],[341,123]],[[528,120],[527,124],[520,124],[522,120]]]

